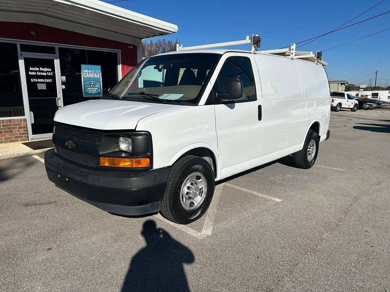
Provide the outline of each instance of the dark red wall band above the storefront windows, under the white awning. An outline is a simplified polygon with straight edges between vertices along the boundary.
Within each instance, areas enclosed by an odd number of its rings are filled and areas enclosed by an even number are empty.
[[[35,35],[31,34],[35,32]],[[0,37],[121,50],[122,77],[137,65],[137,46],[36,23],[0,21]]]

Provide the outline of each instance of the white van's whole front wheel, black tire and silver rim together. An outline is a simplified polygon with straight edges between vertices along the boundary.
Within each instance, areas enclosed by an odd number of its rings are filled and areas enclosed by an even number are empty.
[[[214,172],[203,158],[187,155],[171,168],[161,201],[161,214],[168,220],[188,224],[209,208],[214,193]]]

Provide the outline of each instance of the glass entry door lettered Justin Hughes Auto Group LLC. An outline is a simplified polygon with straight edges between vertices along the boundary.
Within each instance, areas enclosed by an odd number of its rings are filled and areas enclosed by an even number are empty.
[[[50,137],[54,114],[62,106],[55,57],[23,56],[32,138]],[[28,114],[28,112],[26,112]]]

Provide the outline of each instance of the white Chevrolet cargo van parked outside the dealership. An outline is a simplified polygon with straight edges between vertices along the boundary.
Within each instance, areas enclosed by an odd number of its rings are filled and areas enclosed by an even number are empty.
[[[330,90],[313,62],[187,50],[147,58],[107,97],[59,109],[48,178],[105,211],[202,216],[215,181],[294,153],[316,162]]]

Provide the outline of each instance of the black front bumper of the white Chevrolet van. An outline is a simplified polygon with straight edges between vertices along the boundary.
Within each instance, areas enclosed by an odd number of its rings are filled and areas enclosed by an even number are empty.
[[[142,215],[160,210],[170,167],[144,171],[84,169],[45,153],[48,178],[58,188],[110,213]]]

